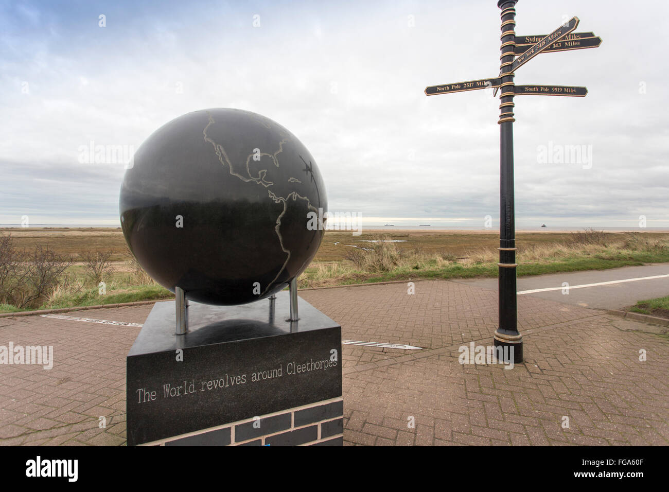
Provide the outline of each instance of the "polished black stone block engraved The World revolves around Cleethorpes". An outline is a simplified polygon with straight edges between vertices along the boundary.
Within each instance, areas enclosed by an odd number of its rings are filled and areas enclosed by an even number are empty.
[[[128,445],[341,397],[341,327],[303,299],[299,321],[289,309],[287,291],[191,302],[175,335],[174,301],[156,303],[126,358]]]

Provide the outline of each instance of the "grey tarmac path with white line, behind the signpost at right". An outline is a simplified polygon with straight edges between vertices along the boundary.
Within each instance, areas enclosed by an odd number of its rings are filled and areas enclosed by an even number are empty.
[[[645,278],[665,275],[661,278]],[[577,287],[599,282],[617,282],[640,278],[630,282]],[[461,284],[497,289],[496,278],[474,278],[453,280]],[[569,294],[563,288],[569,283]],[[550,275],[518,277],[518,295],[541,297],[558,303],[589,307],[593,309],[621,309],[632,306],[637,301],[669,295],[669,263],[654,263],[644,266],[624,266],[611,270],[588,270],[587,272],[557,273]],[[535,289],[554,289],[544,292],[527,292]]]

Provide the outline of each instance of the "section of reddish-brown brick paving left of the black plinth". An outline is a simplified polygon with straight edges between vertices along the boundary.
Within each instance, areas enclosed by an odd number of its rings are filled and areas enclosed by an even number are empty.
[[[143,323],[152,307],[64,314]],[[0,345],[54,346],[51,370],[0,365],[0,444],[124,444],[125,357],[139,330],[41,316],[0,318]],[[106,429],[98,426],[100,416]]]

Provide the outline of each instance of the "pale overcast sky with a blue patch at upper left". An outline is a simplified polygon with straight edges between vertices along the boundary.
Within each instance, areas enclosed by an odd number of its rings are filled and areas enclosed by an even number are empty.
[[[136,149],[169,120],[213,107],[292,131],[320,168],[331,212],[498,224],[498,98],[423,94],[497,76],[496,0],[0,8],[0,224],[27,215],[31,225],[120,225],[124,164],[82,163],[81,148]],[[521,0],[516,11],[518,35],[576,15],[577,31],[603,39],[516,71],[516,84],[589,90],[516,96],[516,226],[635,227],[646,216],[649,228],[669,227],[668,3]],[[569,145],[581,161],[551,159]]]

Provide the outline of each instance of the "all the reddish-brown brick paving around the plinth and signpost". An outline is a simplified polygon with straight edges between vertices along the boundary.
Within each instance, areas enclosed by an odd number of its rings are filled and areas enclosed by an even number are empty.
[[[421,281],[415,295],[403,283],[300,295],[345,339],[424,347],[343,347],[345,444],[669,444],[666,327],[519,297],[526,361],[504,370],[458,363],[460,345],[492,345],[496,291]],[[82,316],[142,323],[149,311]],[[138,330],[1,318],[0,345],[54,345],[56,361],[0,366],[0,444],[124,444],[125,356]]]

